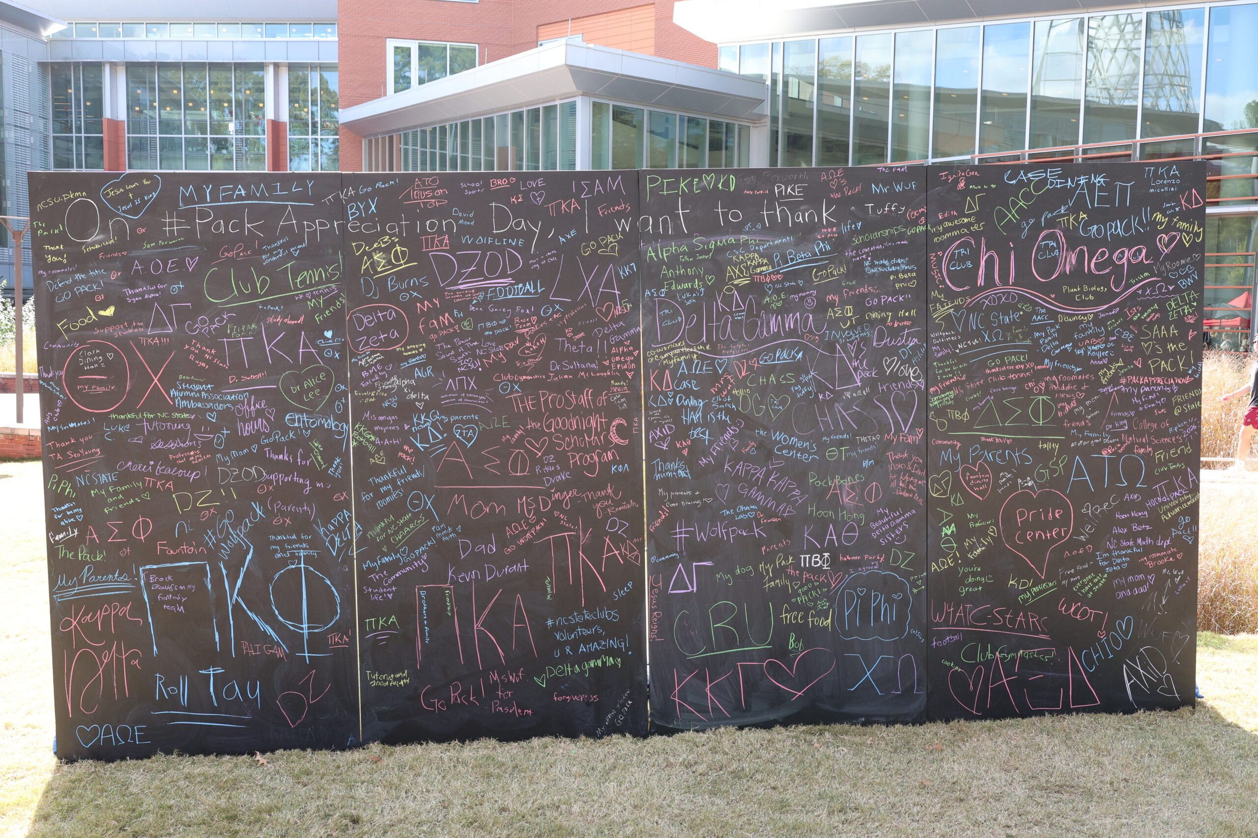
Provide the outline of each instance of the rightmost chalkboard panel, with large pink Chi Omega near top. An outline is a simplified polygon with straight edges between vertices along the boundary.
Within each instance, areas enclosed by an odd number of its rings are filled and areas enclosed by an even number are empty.
[[[931,168],[933,717],[1194,702],[1204,183]]]

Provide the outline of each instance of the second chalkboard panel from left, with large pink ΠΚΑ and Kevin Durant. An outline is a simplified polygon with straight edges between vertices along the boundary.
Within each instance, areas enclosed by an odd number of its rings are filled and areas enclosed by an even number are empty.
[[[645,732],[635,177],[345,176],[369,737]]]

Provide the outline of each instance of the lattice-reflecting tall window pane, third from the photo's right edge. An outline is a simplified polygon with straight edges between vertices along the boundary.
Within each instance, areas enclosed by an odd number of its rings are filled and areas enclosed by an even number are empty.
[[[1136,136],[1142,18],[1103,15],[1088,19],[1083,142],[1111,142]]]

